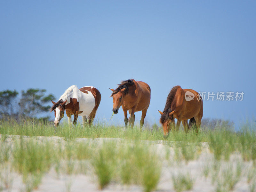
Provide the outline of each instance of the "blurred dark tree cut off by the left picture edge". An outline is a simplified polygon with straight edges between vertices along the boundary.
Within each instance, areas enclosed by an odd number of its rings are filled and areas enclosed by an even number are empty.
[[[11,116],[18,113],[18,107],[15,108],[18,94],[16,90],[9,89],[0,92],[0,116]]]

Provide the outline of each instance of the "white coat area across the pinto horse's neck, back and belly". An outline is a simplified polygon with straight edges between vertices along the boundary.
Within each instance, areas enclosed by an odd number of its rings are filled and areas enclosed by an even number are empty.
[[[86,86],[92,87],[92,86]],[[78,89],[76,85],[70,86],[60,97],[59,100],[66,101],[66,105],[70,102],[70,98],[77,99],[79,102],[79,110],[83,111],[78,116],[88,116],[92,112],[95,107],[95,98],[92,95],[92,92],[87,91],[88,93],[84,93]]]

